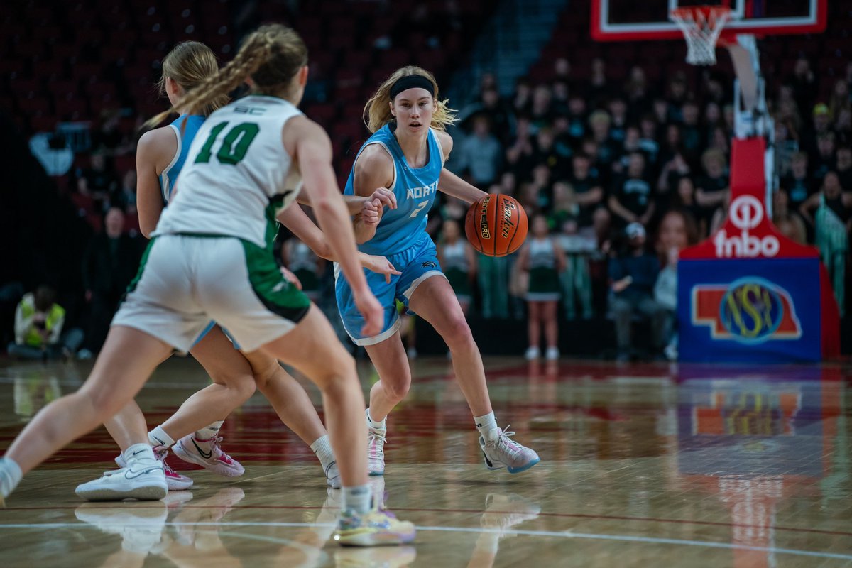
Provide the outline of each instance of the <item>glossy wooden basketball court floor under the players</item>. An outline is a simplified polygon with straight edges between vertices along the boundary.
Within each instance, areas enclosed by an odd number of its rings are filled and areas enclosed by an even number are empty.
[[[0,366],[0,450],[87,364]],[[161,502],[85,503],[112,467],[98,430],[31,473],[0,510],[0,566],[849,566],[849,379],[838,366],[624,365],[488,359],[498,422],[542,457],[488,471],[445,359],[414,364],[389,418],[389,508],[414,546],[343,549],[311,451],[260,395],[223,427],[246,467]],[[365,388],[375,380],[360,366]],[[149,425],[206,384],[171,359],[139,396]],[[319,396],[308,387],[314,401]]]

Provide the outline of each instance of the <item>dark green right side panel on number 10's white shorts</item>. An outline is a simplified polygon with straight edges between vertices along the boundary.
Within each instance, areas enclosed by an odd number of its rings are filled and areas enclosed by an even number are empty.
[[[282,318],[298,322],[311,307],[308,296],[291,284],[275,263],[272,251],[239,239],[245,251],[245,266],[249,271],[251,288],[267,309]]]

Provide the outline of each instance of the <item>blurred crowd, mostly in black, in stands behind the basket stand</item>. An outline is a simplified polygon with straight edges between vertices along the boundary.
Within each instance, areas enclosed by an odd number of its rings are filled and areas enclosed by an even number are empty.
[[[547,80],[522,78],[510,97],[486,74],[478,100],[460,113],[449,167],[487,192],[513,195],[531,219],[544,215],[567,256],[564,318],[613,318],[618,356],[626,359],[631,322],[642,314],[651,320],[652,354],[665,347],[673,358],[676,253],[711,235],[727,215],[733,98],[711,73],[690,87],[679,74],[653,83],[641,66],[625,83],[608,78],[605,60],[590,69],[590,77],[573,77],[569,60],[558,59]],[[768,95],[780,178],[773,215],[786,236],[820,248],[843,314],[852,64],[827,100],[817,98],[817,81],[800,58]],[[440,214],[458,219],[463,210],[445,203]],[[520,316],[504,290],[524,297],[523,267],[513,270],[510,257],[479,261],[486,274],[481,314]],[[492,264],[506,266],[500,272]],[[537,355],[538,345],[530,349]]]

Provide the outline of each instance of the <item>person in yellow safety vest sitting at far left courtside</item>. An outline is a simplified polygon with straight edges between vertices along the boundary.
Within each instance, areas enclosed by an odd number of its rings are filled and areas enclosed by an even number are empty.
[[[65,308],[55,303],[55,297],[55,290],[49,286],[39,286],[34,293],[24,295],[14,312],[14,343],[9,344],[9,355],[57,359],[76,353],[83,332],[73,329],[62,335]]]

